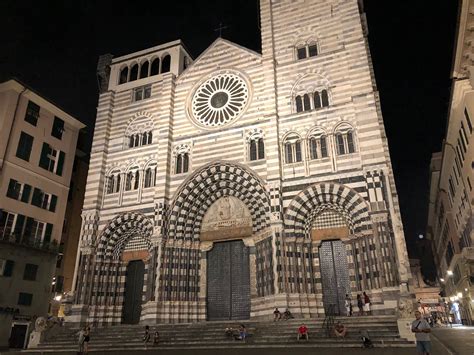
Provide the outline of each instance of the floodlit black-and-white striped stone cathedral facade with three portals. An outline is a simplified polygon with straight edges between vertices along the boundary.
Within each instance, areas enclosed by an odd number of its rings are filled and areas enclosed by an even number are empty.
[[[261,0],[261,53],[98,65],[72,322],[394,314],[410,278],[362,2]]]

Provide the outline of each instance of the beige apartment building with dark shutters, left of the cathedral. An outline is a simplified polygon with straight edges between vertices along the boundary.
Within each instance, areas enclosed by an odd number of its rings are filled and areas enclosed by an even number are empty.
[[[0,348],[48,312],[79,130],[16,80],[0,84]]]

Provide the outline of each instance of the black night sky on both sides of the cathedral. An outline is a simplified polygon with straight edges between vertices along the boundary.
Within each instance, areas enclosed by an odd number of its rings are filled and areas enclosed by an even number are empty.
[[[369,41],[409,252],[424,233],[431,153],[441,149],[457,1],[365,0]],[[181,38],[197,57],[223,37],[260,51],[258,0],[0,2],[0,79],[16,76],[86,124],[95,69],[115,56]]]

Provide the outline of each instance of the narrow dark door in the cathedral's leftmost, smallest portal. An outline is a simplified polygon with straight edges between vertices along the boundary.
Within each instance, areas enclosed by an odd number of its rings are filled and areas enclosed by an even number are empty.
[[[138,324],[140,321],[144,276],[143,260],[132,260],[128,263],[122,308],[122,323],[124,324]]]

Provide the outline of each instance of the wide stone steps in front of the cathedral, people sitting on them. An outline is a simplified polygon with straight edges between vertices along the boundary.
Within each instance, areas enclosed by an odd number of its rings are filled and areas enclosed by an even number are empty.
[[[199,349],[229,347],[361,347],[360,331],[367,330],[376,347],[406,347],[413,343],[400,338],[397,321],[393,316],[337,317],[348,328],[345,339],[328,337],[323,329],[323,318],[292,319],[288,321],[243,321],[250,334],[244,343],[228,338],[226,327],[237,328],[239,322],[205,322],[192,324],[157,324],[150,326],[151,341],[148,349]],[[297,341],[296,330],[301,323],[309,328],[309,341]],[[78,329],[65,327],[62,332],[35,350],[64,351],[77,349]],[[160,343],[154,346],[153,334],[160,333]],[[143,325],[117,325],[91,330],[90,351],[140,350],[145,349],[142,342]]]

